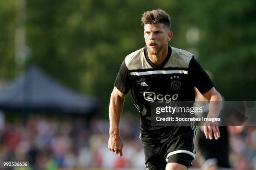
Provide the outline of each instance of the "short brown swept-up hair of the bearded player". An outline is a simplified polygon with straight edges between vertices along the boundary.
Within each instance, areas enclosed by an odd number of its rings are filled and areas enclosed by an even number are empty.
[[[170,16],[164,10],[161,10],[161,9],[146,11],[145,13],[142,14],[141,22],[142,22],[141,25],[143,27],[146,24],[162,23],[168,26],[169,30],[171,29]]]

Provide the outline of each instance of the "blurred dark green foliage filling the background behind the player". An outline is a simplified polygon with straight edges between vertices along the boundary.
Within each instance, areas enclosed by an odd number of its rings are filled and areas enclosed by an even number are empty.
[[[256,11],[253,0],[26,0],[26,44],[31,63],[84,94],[98,96],[102,115],[121,62],[145,45],[141,15],[161,8],[171,15],[170,45],[199,51],[215,87],[227,100],[255,100]],[[14,77],[15,1],[0,2],[0,76]],[[198,27],[191,45],[186,32]],[[127,98],[129,98],[128,96]],[[125,110],[136,112],[130,99]]]

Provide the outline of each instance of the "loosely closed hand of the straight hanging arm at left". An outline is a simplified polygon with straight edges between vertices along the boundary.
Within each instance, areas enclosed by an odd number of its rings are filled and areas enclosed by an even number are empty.
[[[118,156],[123,155],[123,142],[120,135],[110,135],[108,139],[108,149],[118,154]]]

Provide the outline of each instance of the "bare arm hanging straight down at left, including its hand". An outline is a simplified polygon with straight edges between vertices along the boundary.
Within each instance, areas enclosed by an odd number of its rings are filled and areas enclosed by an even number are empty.
[[[125,95],[114,87],[109,104],[110,137],[108,140],[108,148],[119,156],[123,155],[123,143],[119,135],[119,122],[123,112],[124,101]]]

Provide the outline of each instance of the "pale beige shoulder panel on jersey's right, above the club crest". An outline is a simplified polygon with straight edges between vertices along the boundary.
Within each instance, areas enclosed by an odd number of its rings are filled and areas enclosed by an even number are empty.
[[[165,68],[167,67],[181,67],[181,68],[188,68],[189,62],[191,58],[193,57],[193,54],[182,50],[179,48],[172,47],[172,54],[166,65],[164,65]]]

